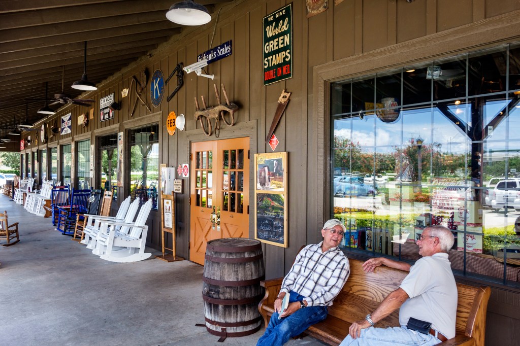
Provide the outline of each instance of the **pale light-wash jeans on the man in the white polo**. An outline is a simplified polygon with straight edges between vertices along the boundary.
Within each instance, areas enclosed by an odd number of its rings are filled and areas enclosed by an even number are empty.
[[[413,345],[431,346],[440,343],[440,340],[431,334],[421,334],[406,327],[361,329],[359,338],[353,339],[350,335],[341,342],[340,346],[368,346],[368,345]]]

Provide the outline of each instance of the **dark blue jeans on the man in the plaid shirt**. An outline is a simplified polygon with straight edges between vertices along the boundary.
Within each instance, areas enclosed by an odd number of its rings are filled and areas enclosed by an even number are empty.
[[[289,302],[304,300],[305,297],[289,292]],[[265,329],[264,335],[258,339],[256,346],[283,345],[290,338],[302,334],[309,326],[323,321],[327,317],[327,307],[307,307],[296,310],[292,315],[278,319],[278,312],[274,312]]]

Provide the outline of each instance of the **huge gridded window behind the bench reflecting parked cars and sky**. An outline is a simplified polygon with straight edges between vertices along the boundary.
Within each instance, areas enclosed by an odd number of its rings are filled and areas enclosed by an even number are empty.
[[[331,85],[345,250],[417,260],[421,232],[442,224],[454,271],[520,283],[519,61],[507,46]]]

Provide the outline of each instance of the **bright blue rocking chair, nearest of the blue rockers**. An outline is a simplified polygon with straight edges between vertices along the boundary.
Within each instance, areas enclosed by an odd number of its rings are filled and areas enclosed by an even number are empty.
[[[101,190],[99,195],[101,195]],[[74,222],[77,214],[87,214],[91,190],[75,190],[70,193],[70,204],[58,207],[58,231],[64,235],[74,235]]]

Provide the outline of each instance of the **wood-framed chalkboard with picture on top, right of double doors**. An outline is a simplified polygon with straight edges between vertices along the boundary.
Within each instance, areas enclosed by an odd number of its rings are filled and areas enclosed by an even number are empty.
[[[287,153],[255,154],[255,239],[281,247],[287,239]]]

